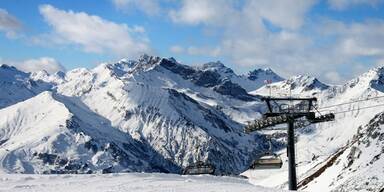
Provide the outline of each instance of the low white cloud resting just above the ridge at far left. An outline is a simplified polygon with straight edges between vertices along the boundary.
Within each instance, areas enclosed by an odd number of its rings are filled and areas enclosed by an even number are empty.
[[[58,71],[65,71],[65,68],[51,57],[40,57],[37,59],[28,59],[24,61],[12,61],[12,60],[1,60],[2,63],[13,65],[16,68],[25,72],[37,72],[43,71],[53,74]]]

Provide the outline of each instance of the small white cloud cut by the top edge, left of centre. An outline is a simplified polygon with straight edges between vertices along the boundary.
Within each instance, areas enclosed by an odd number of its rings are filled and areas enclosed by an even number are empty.
[[[125,12],[137,9],[151,16],[158,15],[161,12],[158,0],[112,0],[112,3],[117,9]]]

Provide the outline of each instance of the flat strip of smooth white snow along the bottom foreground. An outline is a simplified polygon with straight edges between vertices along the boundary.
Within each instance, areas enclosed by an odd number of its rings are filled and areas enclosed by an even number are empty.
[[[0,191],[22,192],[279,192],[250,184],[246,179],[173,174],[0,175]]]

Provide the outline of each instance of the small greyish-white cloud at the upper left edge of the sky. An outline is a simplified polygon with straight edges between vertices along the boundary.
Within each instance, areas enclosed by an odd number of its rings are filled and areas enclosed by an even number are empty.
[[[15,38],[21,28],[22,24],[16,17],[0,8],[0,31],[5,32],[8,38]]]

